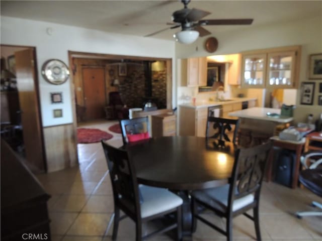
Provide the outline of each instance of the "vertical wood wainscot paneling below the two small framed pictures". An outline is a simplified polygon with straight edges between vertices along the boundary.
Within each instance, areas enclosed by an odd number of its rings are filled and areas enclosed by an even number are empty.
[[[44,128],[48,172],[77,165],[73,124]]]

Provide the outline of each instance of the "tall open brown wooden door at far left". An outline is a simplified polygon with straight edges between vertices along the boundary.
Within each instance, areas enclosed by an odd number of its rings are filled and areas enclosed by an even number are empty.
[[[35,50],[30,48],[15,52],[15,60],[26,160],[32,168],[36,168],[35,171],[45,171]]]

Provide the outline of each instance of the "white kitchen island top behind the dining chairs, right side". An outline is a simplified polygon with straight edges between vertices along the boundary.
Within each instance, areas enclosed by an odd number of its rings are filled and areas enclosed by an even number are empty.
[[[264,107],[252,107],[248,109],[237,110],[228,113],[229,116],[239,118],[250,118],[250,119],[261,119],[262,121],[271,121],[278,123],[289,123],[293,121],[293,117],[282,117],[282,116],[268,116],[266,113],[281,113],[281,109],[264,108]]]

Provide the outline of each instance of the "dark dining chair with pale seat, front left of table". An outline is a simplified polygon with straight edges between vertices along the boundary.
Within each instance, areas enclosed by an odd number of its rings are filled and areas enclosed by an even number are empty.
[[[177,240],[181,240],[182,198],[165,188],[138,185],[130,153],[111,147],[104,141],[101,143],[110,170],[113,189],[114,226],[112,239],[115,240],[117,237],[119,221],[128,216],[135,222],[136,241],[175,228],[177,228]],[[125,215],[120,216],[120,210]],[[167,214],[175,214],[176,218],[171,218],[171,215]],[[170,218],[170,224],[142,236],[142,224],[158,217]]]

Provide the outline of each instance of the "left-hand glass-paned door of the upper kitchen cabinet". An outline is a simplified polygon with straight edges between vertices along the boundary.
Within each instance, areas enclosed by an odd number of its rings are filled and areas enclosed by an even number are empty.
[[[241,85],[255,87],[265,86],[266,54],[243,56],[243,78]]]

